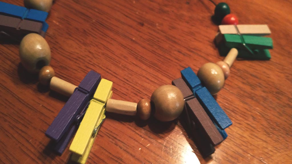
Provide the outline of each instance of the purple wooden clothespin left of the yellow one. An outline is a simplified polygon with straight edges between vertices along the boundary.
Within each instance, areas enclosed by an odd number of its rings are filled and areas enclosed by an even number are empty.
[[[54,149],[59,155],[63,153],[76,132],[100,79],[100,74],[89,71],[46,130],[46,136],[55,141]]]

